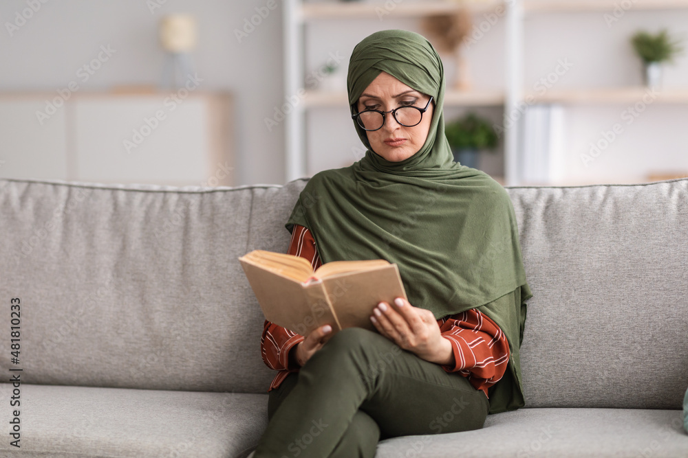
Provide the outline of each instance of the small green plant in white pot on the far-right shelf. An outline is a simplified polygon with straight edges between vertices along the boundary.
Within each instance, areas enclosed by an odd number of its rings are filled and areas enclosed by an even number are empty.
[[[683,51],[680,41],[671,38],[669,32],[663,29],[655,35],[645,31],[636,32],[631,43],[636,54],[643,60],[645,85],[661,87],[662,65],[672,62]]]

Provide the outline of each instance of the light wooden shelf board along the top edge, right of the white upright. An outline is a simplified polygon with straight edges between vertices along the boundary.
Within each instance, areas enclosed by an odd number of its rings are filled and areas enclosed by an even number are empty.
[[[628,0],[629,2],[631,0]],[[537,1],[526,0],[526,12],[614,12],[615,8],[623,11],[640,10],[682,10],[688,9],[687,0],[634,0],[630,8],[623,8],[619,0],[578,0],[578,1]]]

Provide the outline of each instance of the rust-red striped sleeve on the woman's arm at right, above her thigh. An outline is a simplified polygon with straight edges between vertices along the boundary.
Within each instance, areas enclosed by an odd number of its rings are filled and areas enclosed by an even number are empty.
[[[454,354],[454,365],[442,365],[442,369],[458,372],[487,394],[487,389],[504,376],[508,364],[509,344],[504,332],[476,309],[444,317],[438,323]]]

